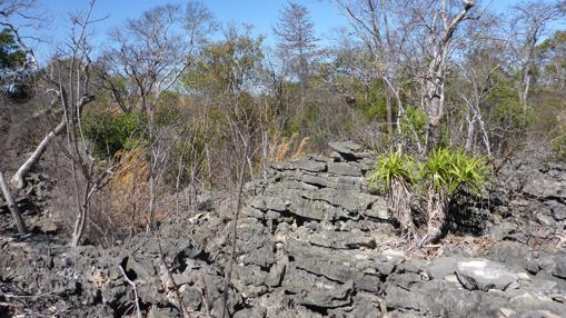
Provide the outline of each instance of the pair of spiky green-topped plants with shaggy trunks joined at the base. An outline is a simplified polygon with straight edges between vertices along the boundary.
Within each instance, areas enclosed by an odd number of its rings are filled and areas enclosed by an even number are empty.
[[[423,246],[440,238],[446,223],[446,211],[451,196],[459,187],[478,195],[491,171],[486,158],[465,151],[440,148],[423,163],[400,151],[377,156],[376,171],[369,183],[387,193],[388,209],[399,221],[401,230],[415,242],[418,233],[411,217],[410,199],[414,189],[425,197],[428,216],[427,232],[418,239]]]

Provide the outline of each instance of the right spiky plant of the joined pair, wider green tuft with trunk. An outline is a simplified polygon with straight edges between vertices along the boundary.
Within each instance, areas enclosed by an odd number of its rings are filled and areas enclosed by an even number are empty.
[[[440,238],[446,223],[446,210],[451,195],[465,185],[479,192],[490,175],[487,161],[479,156],[468,156],[463,150],[440,148],[430,153],[420,166],[427,199],[427,233],[419,246]]]

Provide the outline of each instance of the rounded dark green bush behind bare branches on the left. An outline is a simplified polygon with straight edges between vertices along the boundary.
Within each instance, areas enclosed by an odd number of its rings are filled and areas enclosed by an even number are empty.
[[[85,136],[95,145],[96,155],[105,158],[142,145],[147,139],[146,123],[146,118],[135,112],[92,112],[86,116],[82,127]]]

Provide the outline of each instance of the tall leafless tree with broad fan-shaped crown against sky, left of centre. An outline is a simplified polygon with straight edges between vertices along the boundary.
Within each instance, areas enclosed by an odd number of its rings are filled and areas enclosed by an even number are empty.
[[[211,14],[201,2],[189,1],[185,19],[180,9],[176,4],[158,6],[141,18],[129,20],[125,28],[111,33],[117,46],[102,58],[103,68],[109,70],[105,74],[106,87],[117,105],[126,112],[139,110],[149,118],[148,229],[155,215],[156,169],[162,162],[157,152],[163,155],[162,149],[156,150],[156,107],[161,93],[172,88],[191,63],[206,32],[212,28]]]

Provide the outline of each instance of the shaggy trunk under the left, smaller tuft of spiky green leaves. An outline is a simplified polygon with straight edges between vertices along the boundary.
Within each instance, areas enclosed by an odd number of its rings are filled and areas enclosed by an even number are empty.
[[[413,193],[407,182],[401,179],[393,178],[390,182],[390,192],[388,196],[387,208],[394,213],[401,227],[401,232],[407,237],[409,242],[418,241],[418,232],[415,222],[413,221],[413,213],[410,210],[410,200]]]

